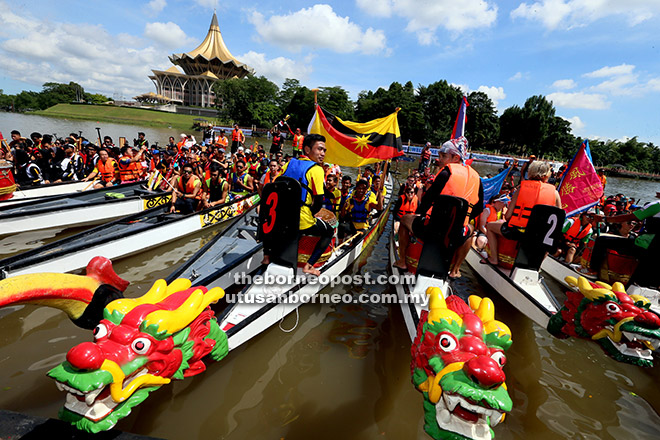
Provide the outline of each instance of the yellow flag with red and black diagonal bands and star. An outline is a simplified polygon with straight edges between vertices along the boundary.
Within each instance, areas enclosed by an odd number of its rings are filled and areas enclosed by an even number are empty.
[[[342,121],[317,105],[307,132],[325,136],[325,162],[359,167],[403,155],[398,112],[360,124]]]

